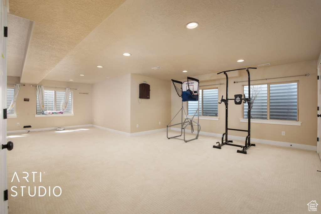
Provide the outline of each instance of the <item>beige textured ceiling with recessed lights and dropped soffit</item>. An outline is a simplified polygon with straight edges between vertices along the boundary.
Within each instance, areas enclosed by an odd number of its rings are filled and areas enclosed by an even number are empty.
[[[96,83],[128,73],[185,79],[321,52],[320,0],[9,0],[9,11],[7,70],[22,83]],[[187,29],[191,21],[199,26]]]

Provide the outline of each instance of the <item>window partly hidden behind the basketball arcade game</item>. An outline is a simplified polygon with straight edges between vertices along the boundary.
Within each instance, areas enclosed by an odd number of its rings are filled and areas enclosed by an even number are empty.
[[[200,89],[200,116],[216,116],[218,105],[218,89]],[[188,101],[188,115],[194,115],[198,107],[198,101]]]

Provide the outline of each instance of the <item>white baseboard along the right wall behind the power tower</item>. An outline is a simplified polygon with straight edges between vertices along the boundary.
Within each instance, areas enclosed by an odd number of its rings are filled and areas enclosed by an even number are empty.
[[[180,132],[179,128],[171,128],[171,130]],[[199,134],[222,138],[222,134],[217,134],[217,133],[200,132]],[[229,135],[229,139],[240,140],[240,141],[245,142],[246,137]],[[296,148],[296,149],[317,151],[317,146],[310,146],[310,145],[304,145],[304,144],[298,144],[298,143],[288,143],[288,142],[282,142],[282,141],[270,141],[270,140],[251,138],[251,143],[263,143],[263,144],[268,144],[268,145],[273,145],[273,146],[283,146],[283,147],[291,147],[291,148]]]

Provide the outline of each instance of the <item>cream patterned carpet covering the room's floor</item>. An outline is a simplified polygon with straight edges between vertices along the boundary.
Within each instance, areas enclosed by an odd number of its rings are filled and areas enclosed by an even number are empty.
[[[9,213],[309,213],[310,201],[321,212],[315,151],[256,143],[245,155],[210,136],[94,127],[14,135]]]

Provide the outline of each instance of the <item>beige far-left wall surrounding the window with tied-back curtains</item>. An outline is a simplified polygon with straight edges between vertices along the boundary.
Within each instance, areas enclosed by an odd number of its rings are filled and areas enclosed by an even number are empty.
[[[19,77],[7,77],[8,84],[20,83]],[[30,84],[21,86],[19,95],[16,101],[16,118],[7,119],[7,131],[20,130],[17,123],[20,123],[20,127],[24,125],[31,125],[29,129],[42,129],[53,127],[64,127],[74,125],[86,125],[91,124],[91,84],[72,83],[72,82],[60,82],[60,81],[46,81],[39,82],[38,85],[48,87],[61,87],[61,88],[74,88],[79,90],[73,90],[73,112],[74,116],[48,116],[48,117],[35,117],[36,114],[36,87],[30,87]],[[13,85],[8,85],[8,87]],[[53,89],[46,88],[45,89]],[[61,89],[64,90],[64,89]],[[88,94],[80,94],[88,93]],[[29,102],[23,101],[24,98],[29,98]]]

